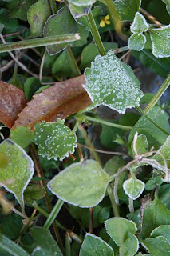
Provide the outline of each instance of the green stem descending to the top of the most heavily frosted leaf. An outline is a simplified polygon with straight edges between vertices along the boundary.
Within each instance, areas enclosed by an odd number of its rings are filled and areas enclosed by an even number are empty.
[[[93,14],[92,12],[90,11],[89,14],[86,16],[86,19],[87,19],[87,22],[88,22],[88,25],[89,25],[89,29],[93,35],[93,40],[97,46],[97,49],[99,51],[99,54],[101,54],[101,56],[104,56],[106,54],[105,52],[105,47],[103,46],[103,43],[101,41],[101,36],[97,30],[97,25],[96,25],[96,22],[93,18]]]

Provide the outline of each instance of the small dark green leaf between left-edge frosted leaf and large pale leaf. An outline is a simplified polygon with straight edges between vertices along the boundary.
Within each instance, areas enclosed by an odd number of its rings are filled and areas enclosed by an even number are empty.
[[[34,201],[38,201],[45,195],[45,190],[42,186],[31,185],[27,186],[24,191],[24,200],[25,203],[32,204]]]

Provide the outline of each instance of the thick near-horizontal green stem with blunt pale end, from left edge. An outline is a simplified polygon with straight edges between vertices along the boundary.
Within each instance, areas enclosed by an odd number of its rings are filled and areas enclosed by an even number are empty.
[[[0,44],[0,53],[5,53],[6,51],[12,50],[22,50],[41,46],[53,46],[56,44],[61,44],[63,42],[73,42],[80,39],[79,34],[63,34],[57,35],[55,37],[45,37],[45,38],[34,38],[28,40],[22,40],[19,42],[8,42],[5,44]]]

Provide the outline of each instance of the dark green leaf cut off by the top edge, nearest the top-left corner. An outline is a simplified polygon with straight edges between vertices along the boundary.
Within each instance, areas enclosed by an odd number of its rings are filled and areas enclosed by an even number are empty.
[[[35,0],[11,0],[7,4],[8,10],[10,10],[10,18],[20,18],[23,21],[27,21],[27,11],[34,2]]]

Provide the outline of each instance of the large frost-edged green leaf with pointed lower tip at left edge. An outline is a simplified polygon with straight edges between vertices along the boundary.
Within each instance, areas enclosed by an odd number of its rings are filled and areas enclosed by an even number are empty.
[[[1,143],[0,153],[6,154],[8,158],[6,165],[0,168],[0,182],[14,194],[23,208],[23,192],[33,177],[34,163],[20,146],[9,139]]]

